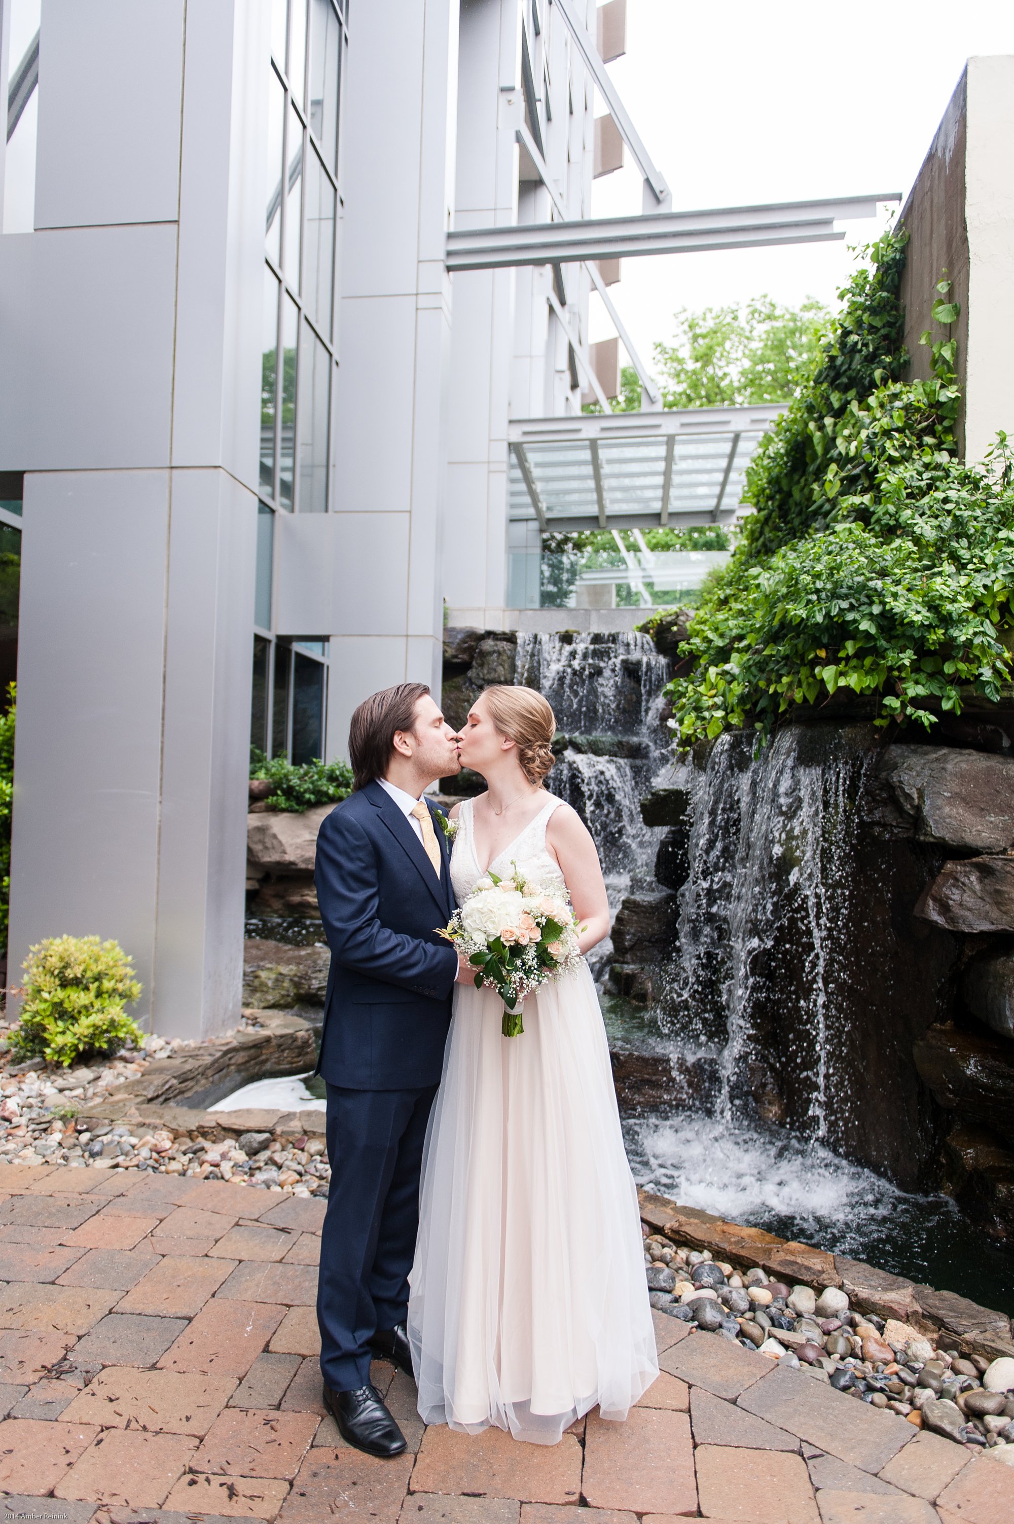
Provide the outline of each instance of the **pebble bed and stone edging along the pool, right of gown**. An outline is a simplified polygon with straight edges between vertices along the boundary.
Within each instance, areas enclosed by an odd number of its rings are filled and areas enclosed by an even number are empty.
[[[971,1449],[1014,1448],[1011,1320],[640,1192],[651,1305]],[[1006,1457],[1005,1457],[1006,1458]]]

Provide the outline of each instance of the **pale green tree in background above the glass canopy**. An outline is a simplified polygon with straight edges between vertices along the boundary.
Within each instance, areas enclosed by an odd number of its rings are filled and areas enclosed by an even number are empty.
[[[813,370],[829,320],[813,297],[797,308],[770,296],[701,312],[682,308],[672,343],[654,346],[663,405],[787,402]]]

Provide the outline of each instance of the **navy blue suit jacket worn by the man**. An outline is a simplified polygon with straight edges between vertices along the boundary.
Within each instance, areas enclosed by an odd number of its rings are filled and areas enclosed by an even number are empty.
[[[438,811],[428,806],[436,817]],[[331,811],[317,835],[316,884],[331,948],[317,1073],[343,1090],[436,1085],[457,954],[436,934],[454,913],[447,838],[441,876],[380,783]]]

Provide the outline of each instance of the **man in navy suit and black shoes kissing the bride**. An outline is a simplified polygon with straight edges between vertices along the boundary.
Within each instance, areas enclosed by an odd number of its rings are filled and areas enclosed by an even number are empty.
[[[441,1079],[457,952],[439,811],[421,799],[460,771],[456,736],[422,683],[352,715],[355,792],[317,837],[317,902],[331,948],[319,1073],[328,1085],[331,1187],[317,1321],[323,1399],[342,1437],[398,1455],[404,1436],[371,1358],[412,1375],[406,1334],[422,1141]]]

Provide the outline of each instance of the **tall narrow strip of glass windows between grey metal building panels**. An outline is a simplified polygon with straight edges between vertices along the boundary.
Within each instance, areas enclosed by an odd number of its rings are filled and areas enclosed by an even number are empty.
[[[271,0],[252,745],[323,756],[326,640],[273,632],[274,514],[325,514],[348,0]]]

